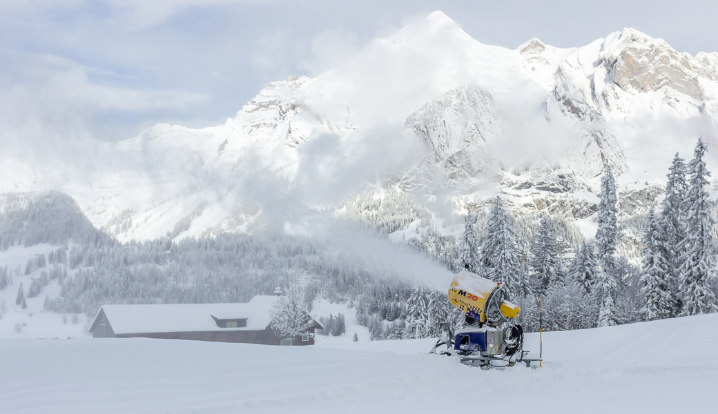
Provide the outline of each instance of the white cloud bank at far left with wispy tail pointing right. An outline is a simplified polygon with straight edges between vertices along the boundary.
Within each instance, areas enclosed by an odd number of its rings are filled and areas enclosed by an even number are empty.
[[[94,80],[105,72],[53,55],[14,57],[0,83],[1,139],[17,137],[17,150],[62,146],[88,138],[127,138],[134,125],[109,125],[113,116],[188,108],[205,95],[185,90],[131,88]],[[98,131],[116,134],[96,136]],[[61,143],[61,144],[60,144]]]

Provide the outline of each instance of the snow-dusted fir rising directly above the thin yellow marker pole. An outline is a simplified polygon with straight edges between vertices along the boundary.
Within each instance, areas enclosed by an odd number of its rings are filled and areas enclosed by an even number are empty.
[[[541,226],[538,227],[538,235],[531,247],[531,259],[528,265],[531,286],[536,295],[544,296],[549,286],[564,284],[564,269],[556,250],[556,238],[551,232],[551,222],[546,216],[541,217]]]

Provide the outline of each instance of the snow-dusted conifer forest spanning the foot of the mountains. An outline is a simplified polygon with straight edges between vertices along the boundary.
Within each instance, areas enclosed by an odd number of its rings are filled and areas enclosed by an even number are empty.
[[[711,313],[718,309],[718,284],[705,151],[699,141],[687,164],[676,154],[664,197],[654,200],[649,215],[622,222],[615,179],[607,169],[596,207],[598,230],[588,240],[558,215],[513,217],[496,197],[489,208],[466,206],[461,234],[447,235],[429,225],[397,243],[449,270],[467,267],[507,286],[528,331],[538,329],[539,298],[549,330]],[[65,194],[4,197],[0,248],[57,246],[24,268],[0,268],[0,289],[17,290],[17,306],[50,283],[61,290],[46,298],[45,310],[93,316],[103,304],[248,301],[291,278],[301,281],[306,306],[322,297],[355,308],[371,339],[434,337],[440,322],[462,322],[445,292],[415,286],[393,270],[367,269],[310,236],[263,227],[251,234],[118,243],[93,228]],[[417,217],[431,219],[405,192],[388,191],[381,203],[378,208],[376,202],[356,202],[347,217],[375,229],[376,237],[406,230]],[[633,243],[622,233],[642,235],[635,249],[617,249]],[[620,253],[636,249],[638,257]],[[29,286],[15,283],[37,270],[39,277]],[[343,314],[322,322],[323,334],[344,333]]]

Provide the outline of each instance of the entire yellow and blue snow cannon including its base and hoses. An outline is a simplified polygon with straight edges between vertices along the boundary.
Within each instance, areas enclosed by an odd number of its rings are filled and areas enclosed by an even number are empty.
[[[505,288],[475,273],[462,270],[449,285],[449,303],[465,314],[464,326],[447,333],[434,345],[430,354],[458,357],[463,364],[488,369],[511,367],[523,362],[527,367],[541,358],[530,357],[523,350],[523,328],[511,324],[518,316],[518,306],[508,300]],[[445,346],[445,349],[441,347]]]

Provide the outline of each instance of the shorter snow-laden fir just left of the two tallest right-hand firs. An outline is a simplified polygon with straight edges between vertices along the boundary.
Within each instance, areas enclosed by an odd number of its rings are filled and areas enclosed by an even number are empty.
[[[670,318],[673,313],[673,297],[668,286],[670,264],[666,260],[665,233],[661,217],[653,209],[648,213],[648,222],[643,233],[643,263],[641,265],[644,306],[641,309],[646,321]]]

